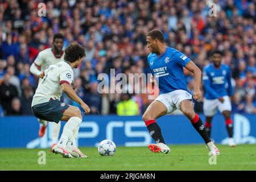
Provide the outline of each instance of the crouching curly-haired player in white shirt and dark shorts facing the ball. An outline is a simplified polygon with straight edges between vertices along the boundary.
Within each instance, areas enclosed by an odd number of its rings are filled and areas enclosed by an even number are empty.
[[[77,68],[85,57],[85,49],[80,44],[70,44],[65,49],[64,61],[50,65],[48,69],[40,74],[43,78],[39,82],[32,100],[32,111],[35,116],[44,121],[58,123],[67,121],[63,128],[59,143],[53,144],[51,151],[61,154],[65,158],[86,158],[86,155],[76,146],[77,134],[82,122],[81,111],[78,107],[67,105],[60,101],[62,91],[71,100],[77,102],[86,114],[90,112],[86,105],[73,90],[73,70]]]

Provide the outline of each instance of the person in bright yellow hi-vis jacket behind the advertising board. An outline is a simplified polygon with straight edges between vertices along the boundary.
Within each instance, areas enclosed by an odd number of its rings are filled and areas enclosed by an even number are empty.
[[[131,100],[129,93],[123,93],[121,101],[117,104],[117,115],[138,115],[139,107],[137,103]]]

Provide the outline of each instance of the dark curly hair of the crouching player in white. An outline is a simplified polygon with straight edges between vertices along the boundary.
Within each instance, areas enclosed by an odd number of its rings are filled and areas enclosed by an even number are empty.
[[[64,52],[64,60],[68,61],[69,63],[73,63],[76,60],[86,56],[84,47],[77,43],[69,44]]]

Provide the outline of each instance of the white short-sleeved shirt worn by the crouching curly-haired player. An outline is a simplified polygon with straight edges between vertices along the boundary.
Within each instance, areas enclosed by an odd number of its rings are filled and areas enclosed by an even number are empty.
[[[49,100],[60,100],[62,89],[61,84],[71,84],[73,81],[73,70],[65,61],[50,65],[44,71],[44,78],[39,82],[32,105],[42,104]]]

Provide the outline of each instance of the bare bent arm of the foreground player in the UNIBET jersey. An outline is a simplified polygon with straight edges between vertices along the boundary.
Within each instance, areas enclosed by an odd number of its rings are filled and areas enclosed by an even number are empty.
[[[201,77],[202,77],[202,72],[199,69],[199,67],[197,67],[195,65],[195,63],[193,63],[193,61],[189,61],[187,65],[185,65],[185,68],[187,68],[189,71],[191,71],[192,73],[194,73],[194,77],[195,77],[195,85],[194,85],[194,93],[193,93],[193,98],[195,100],[198,100],[202,97],[202,93],[200,91],[200,84],[201,84]]]

